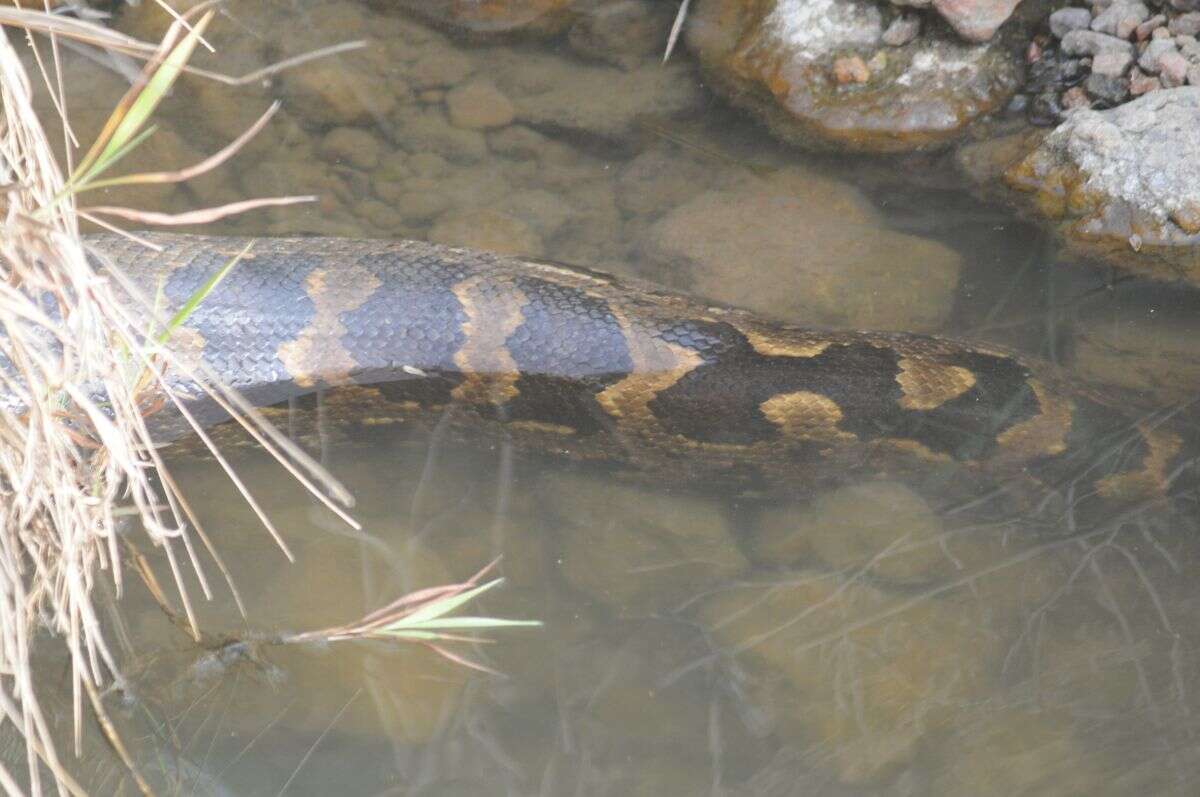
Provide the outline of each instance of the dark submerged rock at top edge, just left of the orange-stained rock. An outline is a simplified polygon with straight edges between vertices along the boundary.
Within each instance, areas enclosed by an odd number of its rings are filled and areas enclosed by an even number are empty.
[[[648,0],[576,2],[568,42],[580,55],[631,70],[666,47],[673,12]]]

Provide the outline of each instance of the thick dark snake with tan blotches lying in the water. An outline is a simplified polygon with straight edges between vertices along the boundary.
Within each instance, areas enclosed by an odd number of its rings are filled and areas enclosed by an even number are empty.
[[[412,240],[88,239],[169,308],[248,253],[172,344],[260,407],[416,417],[680,483],[794,496],[954,469],[1130,502],[1187,451],[1049,362],[930,335],[834,331],[582,268]],[[203,396],[169,377],[186,401]]]

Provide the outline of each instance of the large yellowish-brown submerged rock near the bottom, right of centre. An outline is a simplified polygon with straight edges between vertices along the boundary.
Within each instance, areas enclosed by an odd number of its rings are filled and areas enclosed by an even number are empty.
[[[955,601],[912,605],[860,580],[790,571],[713,592],[696,618],[757,679],[776,732],[845,783],[886,779],[988,694],[997,643]],[[970,792],[944,792],[970,793]]]

